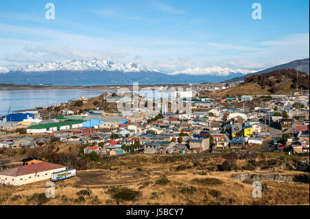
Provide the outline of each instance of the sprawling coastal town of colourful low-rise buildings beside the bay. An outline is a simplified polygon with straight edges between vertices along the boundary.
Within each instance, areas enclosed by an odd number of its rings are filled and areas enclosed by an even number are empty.
[[[23,150],[26,154],[27,150],[50,146],[52,142],[67,148],[79,146],[85,156],[98,159],[134,154],[221,154],[227,150],[291,156],[309,153],[309,93],[212,98],[216,89],[208,91],[210,97],[201,95],[204,89],[201,90],[176,91],[190,106],[189,113],[169,112],[172,106],[163,97],[160,101],[151,100],[154,111],[120,112],[116,106],[125,93],[110,92],[103,93],[100,99],[79,97],[48,108],[8,112],[0,120],[1,154],[6,154],[6,150]],[[90,104],[91,109],[83,108]],[[109,112],[102,106],[110,106]],[[50,179],[54,172],[76,168],[35,157],[23,157],[23,161],[1,159],[1,162],[1,185],[42,181]],[[22,165],[12,165],[16,162]],[[44,177],[26,179],[40,168]],[[25,173],[16,175],[16,172]],[[19,177],[24,178],[19,181]]]

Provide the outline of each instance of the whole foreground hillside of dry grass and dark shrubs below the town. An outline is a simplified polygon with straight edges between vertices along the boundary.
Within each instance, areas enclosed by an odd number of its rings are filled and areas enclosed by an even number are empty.
[[[57,154],[66,152],[65,145],[52,148]],[[67,148],[73,153],[80,149]],[[65,157],[55,159],[68,162]],[[45,198],[47,181],[1,187],[0,205],[309,205],[309,169],[300,168],[305,163],[309,164],[309,154],[288,156],[245,150],[224,154],[128,154],[91,162],[88,170],[76,167],[74,178],[56,183],[55,198]],[[298,180],[258,180],[262,198],[253,198],[252,181],[235,178],[245,173],[293,176]]]

